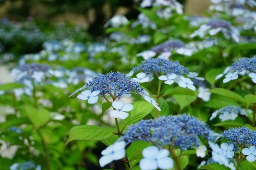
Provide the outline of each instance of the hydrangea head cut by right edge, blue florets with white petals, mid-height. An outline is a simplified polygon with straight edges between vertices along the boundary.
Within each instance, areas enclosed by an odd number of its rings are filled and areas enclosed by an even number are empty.
[[[252,58],[241,58],[231,66],[228,66],[224,72],[217,75],[215,79],[219,79],[224,75],[223,83],[237,79],[238,75],[249,75],[253,83],[256,84],[256,56]]]

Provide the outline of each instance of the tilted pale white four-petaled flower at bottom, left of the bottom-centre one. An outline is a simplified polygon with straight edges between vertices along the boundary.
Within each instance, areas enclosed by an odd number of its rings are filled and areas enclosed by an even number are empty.
[[[125,157],[125,141],[116,142],[101,153],[103,156],[99,159],[99,165],[104,167],[106,164],[111,163]]]

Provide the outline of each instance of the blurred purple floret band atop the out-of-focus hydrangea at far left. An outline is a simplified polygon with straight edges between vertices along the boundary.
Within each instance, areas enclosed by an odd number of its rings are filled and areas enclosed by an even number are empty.
[[[46,64],[31,63],[17,66],[15,69],[20,70],[21,72],[33,74],[34,72],[47,72],[51,67]]]

